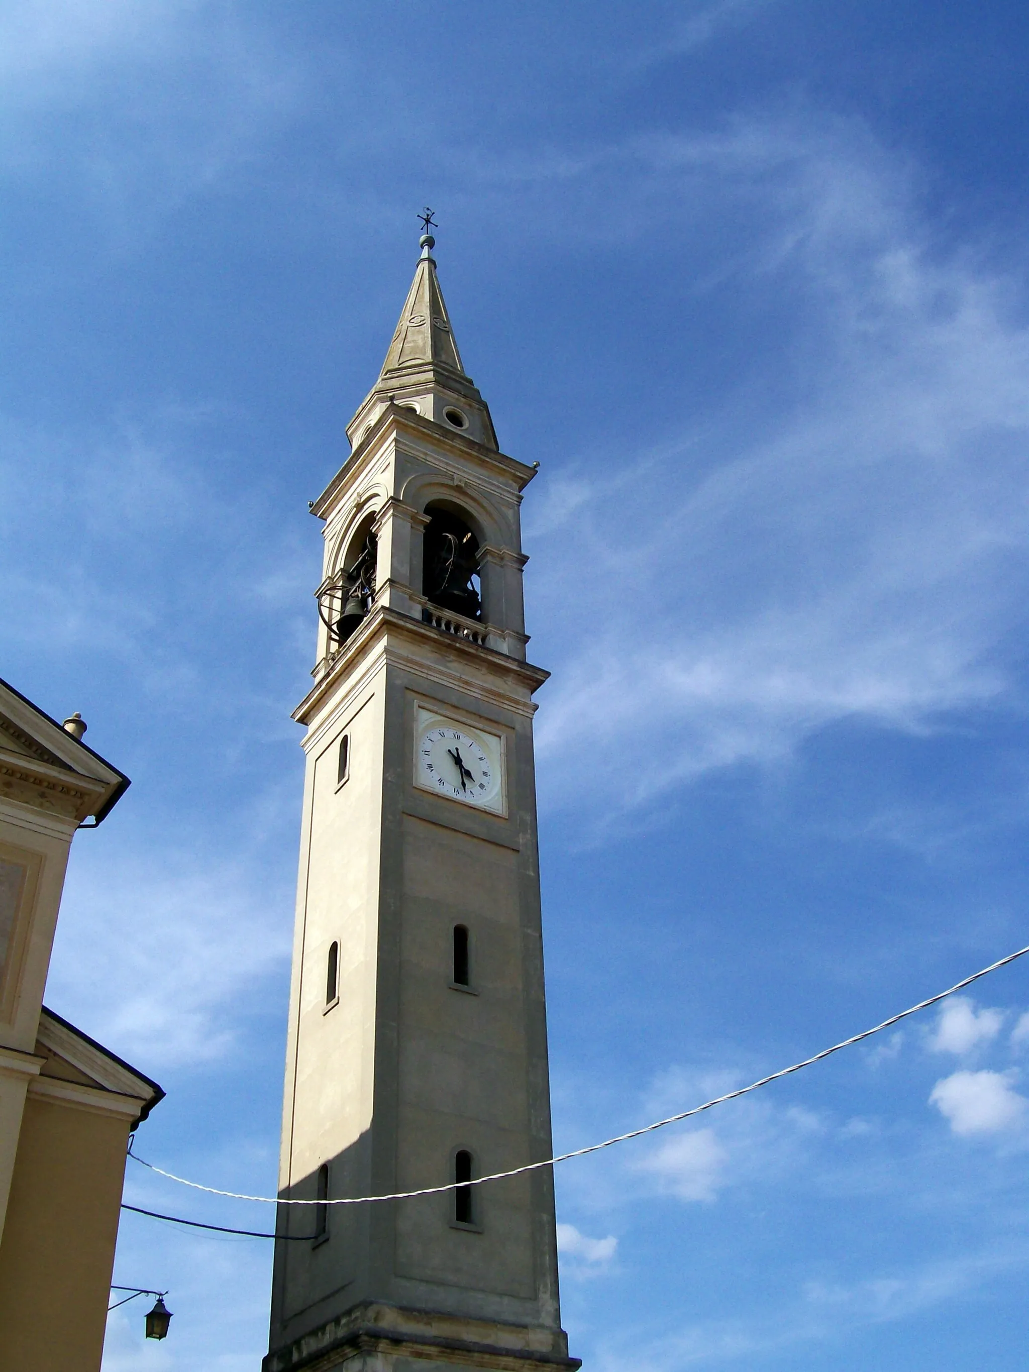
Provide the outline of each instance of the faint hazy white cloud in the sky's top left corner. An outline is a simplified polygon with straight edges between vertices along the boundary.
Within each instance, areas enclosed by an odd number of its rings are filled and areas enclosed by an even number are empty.
[[[93,252],[118,258],[192,198],[246,178],[303,88],[259,22],[210,0],[5,5],[0,78],[4,172],[75,185]],[[40,268],[47,284],[55,265]]]

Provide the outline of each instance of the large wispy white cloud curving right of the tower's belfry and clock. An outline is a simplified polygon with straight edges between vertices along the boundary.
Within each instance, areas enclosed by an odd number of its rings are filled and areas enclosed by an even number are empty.
[[[740,122],[619,158],[635,204],[761,224],[724,270],[792,291],[805,384],[753,427],[741,394],[630,454],[564,523],[556,493],[539,539],[527,508],[536,564],[561,569],[532,587],[565,656],[539,719],[547,799],[611,814],[833,722],[926,731],[1003,698],[1029,604],[1013,283],[930,254],[896,169],[845,128]]]

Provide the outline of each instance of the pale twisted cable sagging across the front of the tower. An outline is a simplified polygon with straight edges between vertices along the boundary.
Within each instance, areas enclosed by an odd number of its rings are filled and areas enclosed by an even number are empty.
[[[713,1110],[715,1106],[724,1104],[729,1100],[738,1100],[741,1096],[746,1096],[752,1091],[759,1091],[761,1087],[767,1087],[772,1081],[779,1081],[782,1077],[789,1077],[794,1072],[801,1072],[804,1067],[809,1067],[815,1062],[822,1062],[825,1058],[830,1058],[834,1052],[840,1052],[842,1048],[851,1048],[853,1044],[862,1043],[864,1039],[871,1039],[873,1034],[882,1033],[884,1029],[890,1029],[893,1025],[900,1024],[901,1019],[907,1019],[911,1015],[916,1015],[921,1010],[927,1010],[930,1006],[938,1004],[938,1002],[955,995],[955,992],[963,991],[974,981],[988,977],[992,971],[1006,967],[1008,963],[1015,962],[1018,958],[1024,958],[1026,954],[1029,954],[1029,944],[1026,944],[1025,948],[1019,948],[1017,952],[1008,954],[1006,958],[999,958],[988,967],[974,971],[970,977],[963,977],[952,986],[948,986],[947,991],[938,991],[934,996],[929,996],[926,1000],[919,1000],[916,1006],[910,1006],[907,1010],[901,1010],[899,1014],[890,1015],[888,1019],[874,1025],[871,1029],[863,1029],[860,1033],[851,1034],[849,1039],[842,1039],[840,1043],[834,1043],[831,1048],[823,1048],[820,1052],[815,1052],[809,1058],[794,1062],[789,1067],[781,1067],[778,1072],[770,1072],[766,1077],[759,1077],[757,1081],[752,1081],[746,1087],[737,1087],[735,1091],[726,1091],[723,1095],[713,1096],[711,1100],[705,1100],[700,1106],[693,1106],[689,1110],[681,1110],[678,1114],[667,1115],[664,1120],[656,1120],[653,1124],[642,1125],[639,1129],[630,1129],[627,1133],[617,1133],[611,1139],[604,1139],[601,1143],[591,1143],[584,1148],[572,1148],[569,1152],[561,1152],[553,1158],[545,1158],[539,1162],[525,1162],[520,1168],[509,1168],[505,1172],[491,1172],[483,1177],[472,1177],[468,1181],[447,1181],[446,1184],[438,1187],[420,1187],[416,1191],[394,1191],[390,1195],[327,1196],[322,1200],[306,1200],[294,1199],[292,1196],[255,1196],[247,1195],[241,1191],[222,1191],[218,1187],[206,1187],[199,1181],[189,1181],[187,1177],[178,1177],[174,1172],[165,1172],[163,1168],[158,1168],[155,1163],[147,1162],[144,1158],[140,1158],[139,1154],[132,1151],[132,1143],[129,1144],[129,1157],[141,1166],[158,1173],[158,1176],[167,1177],[170,1181],[177,1181],[184,1187],[192,1187],[195,1191],[204,1191],[209,1195],[215,1196],[228,1196],[232,1200],[257,1200],[262,1205],[373,1205],[381,1200],[413,1200],[417,1196],[440,1195],[445,1191],[457,1191],[458,1187],[480,1187],[487,1181],[504,1181],[508,1177],[519,1177],[527,1172],[538,1172],[541,1168],[552,1168],[558,1162],[568,1162],[571,1158],[584,1158],[590,1152],[600,1152],[602,1148],[612,1148],[616,1143],[627,1143],[630,1139],[639,1139],[646,1133],[654,1133],[657,1129],[664,1129],[670,1124],[679,1124],[682,1120],[690,1120],[694,1115],[702,1114],[705,1110]]]

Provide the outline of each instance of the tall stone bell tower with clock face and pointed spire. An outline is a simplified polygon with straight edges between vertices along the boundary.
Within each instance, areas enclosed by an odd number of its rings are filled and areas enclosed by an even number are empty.
[[[568,1357],[519,505],[421,239],[325,521],[265,1372]]]

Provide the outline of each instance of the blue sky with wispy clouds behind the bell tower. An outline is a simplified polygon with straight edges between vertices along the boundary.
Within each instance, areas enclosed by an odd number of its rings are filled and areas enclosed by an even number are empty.
[[[807,1055],[1029,943],[1029,18],[1014,3],[0,4],[3,675],[133,778],[48,1002],[144,1157],[274,1187],[307,501],[439,220],[524,505],[554,1132]],[[1029,969],[558,1170],[589,1369],[1007,1369]],[[136,1205],[263,1228],[130,1169]],[[270,1246],[129,1216],[243,1372]]]

